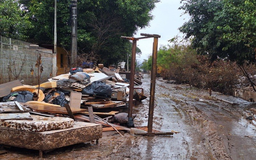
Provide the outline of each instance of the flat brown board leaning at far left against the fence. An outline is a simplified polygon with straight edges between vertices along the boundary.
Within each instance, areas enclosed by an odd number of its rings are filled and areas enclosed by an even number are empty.
[[[8,94],[11,93],[11,90],[13,87],[17,87],[17,86],[21,86],[21,85],[22,84],[20,83],[19,80],[0,84],[0,97],[7,96]]]

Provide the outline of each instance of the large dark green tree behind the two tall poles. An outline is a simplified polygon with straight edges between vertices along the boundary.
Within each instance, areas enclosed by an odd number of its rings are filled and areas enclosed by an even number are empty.
[[[77,2],[77,44],[79,54],[97,54],[99,63],[115,64],[126,59],[130,45],[120,36],[132,36],[148,26],[151,11],[159,0],[80,0]],[[53,42],[54,1],[22,1],[34,26],[30,38]],[[70,0],[57,2],[57,45],[70,48]]]

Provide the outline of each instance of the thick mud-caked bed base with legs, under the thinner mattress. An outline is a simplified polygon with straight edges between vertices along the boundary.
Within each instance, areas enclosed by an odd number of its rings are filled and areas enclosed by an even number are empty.
[[[0,128],[0,144],[41,151],[97,140],[101,137],[102,125],[86,122],[74,122],[74,126],[67,129],[38,133]]]

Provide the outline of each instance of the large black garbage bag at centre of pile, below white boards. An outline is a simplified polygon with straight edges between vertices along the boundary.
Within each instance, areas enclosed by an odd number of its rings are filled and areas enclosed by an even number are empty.
[[[110,85],[107,85],[103,82],[94,81],[91,85],[85,87],[82,90],[82,94],[89,94],[89,95],[103,95],[103,96],[111,96],[112,89]]]

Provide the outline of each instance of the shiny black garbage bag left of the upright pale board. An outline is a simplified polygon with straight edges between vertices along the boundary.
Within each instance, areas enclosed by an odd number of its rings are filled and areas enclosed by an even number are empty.
[[[65,104],[68,103],[68,101],[65,99],[65,94],[63,92],[60,91],[55,91],[56,93],[60,94],[59,96],[57,96],[56,98],[54,98],[54,100],[52,100],[52,104],[56,104],[56,105],[60,105],[61,107],[65,107]],[[51,94],[48,94],[45,98],[44,101],[45,102],[49,102],[52,96],[54,96],[54,93],[52,92]],[[55,94],[56,95],[56,94]]]

